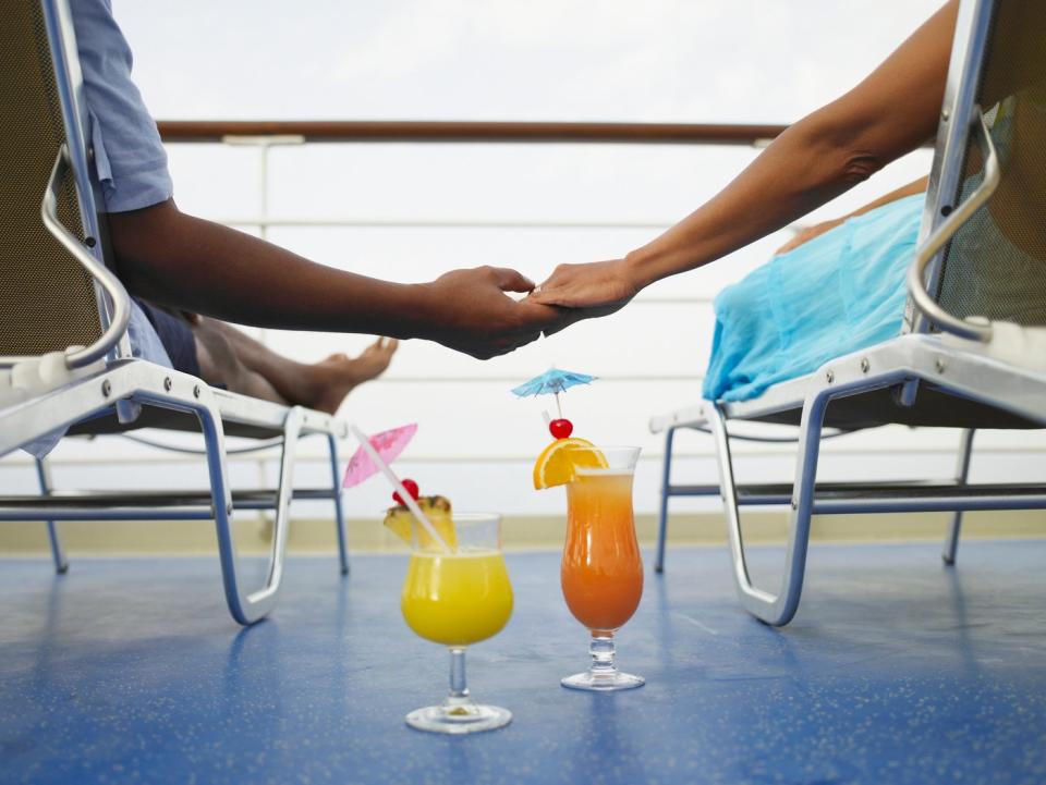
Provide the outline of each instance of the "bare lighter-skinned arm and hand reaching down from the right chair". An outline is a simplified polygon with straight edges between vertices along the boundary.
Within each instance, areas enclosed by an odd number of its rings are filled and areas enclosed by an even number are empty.
[[[861,84],[790,126],[718,195],[623,259],[562,265],[538,303],[623,306],[644,286],[781,229],[934,135],[958,0],[949,0]]]

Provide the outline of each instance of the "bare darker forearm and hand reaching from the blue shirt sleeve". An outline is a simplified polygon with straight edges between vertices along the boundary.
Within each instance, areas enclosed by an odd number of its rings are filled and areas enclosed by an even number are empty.
[[[458,270],[402,284],[343,272],[221,224],[173,200],[109,214],[127,290],[163,305],[259,327],[422,338],[487,358],[535,340],[557,309],[516,303],[513,270]]]

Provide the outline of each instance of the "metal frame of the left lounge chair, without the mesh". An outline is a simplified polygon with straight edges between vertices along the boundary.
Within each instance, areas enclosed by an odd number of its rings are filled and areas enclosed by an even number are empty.
[[[268,614],[277,602],[283,573],[292,499],[330,499],[335,504],[336,530],[342,574],[348,573],[345,524],[340,495],[336,439],[348,436],[348,425],[324,413],[301,406],[285,407],[208,387],[200,379],[131,356],[126,335],[130,298],[105,265],[101,244],[81,242],[57,218],[57,188],[66,168],[76,185],[84,234],[99,237],[95,195],[86,146],[86,108],[83,82],[66,0],[42,0],[51,59],[62,105],[66,143],[58,151],[51,181],[41,205],[41,220],[50,233],[86,269],[98,291],[101,336],[90,346],[66,353],[65,365],[84,368],[101,358],[105,367],[35,398],[0,408],[0,456],[58,429],[85,418],[117,409],[122,422],[136,419],[141,406],[156,406],[195,415],[206,446],[210,489],[206,493],[96,494],[57,493],[47,467],[37,463],[41,498],[0,498],[0,520],[44,520],[48,524],[54,565],[65,572],[68,562],[56,529],[59,520],[192,520],[214,519],[226,599],[232,616],[252,624]],[[28,359],[0,357],[0,368]],[[272,508],[276,512],[267,577],[263,588],[248,591],[236,569],[235,538],[231,526],[233,500],[229,485],[223,422],[270,431],[282,441],[279,483],[275,493],[240,494],[241,510]],[[331,486],[295,493],[293,471],[297,440],[307,434],[327,439]]]

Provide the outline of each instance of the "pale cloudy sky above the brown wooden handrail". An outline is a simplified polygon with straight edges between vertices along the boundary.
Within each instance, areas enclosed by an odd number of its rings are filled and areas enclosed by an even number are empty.
[[[787,123],[939,0],[113,0],[158,118]]]

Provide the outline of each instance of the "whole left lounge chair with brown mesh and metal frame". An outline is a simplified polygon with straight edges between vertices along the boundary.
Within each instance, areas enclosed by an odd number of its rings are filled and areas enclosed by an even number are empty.
[[[327,499],[346,573],[336,443],[348,434],[346,424],[212,389],[131,354],[130,298],[107,267],[66,1],[2,3],[0,65],[0,456],[65,429],[196,431],[204,436],[210,479],[206,490],[177,493],[59,492],[39,462],[41,495],[0,495],[0,520],[47,522],[62,573],[68,562],[57,522],[214,519],[229,610],[251,624],[279,594],[292,498]],[[293,491],[297,440],[308,434],[327,441],[331,485]],[[282,444],[276,489],[231,490],[227,436]],[[238,574],[234,510],[276,511],[268,573],[256,591]]]

